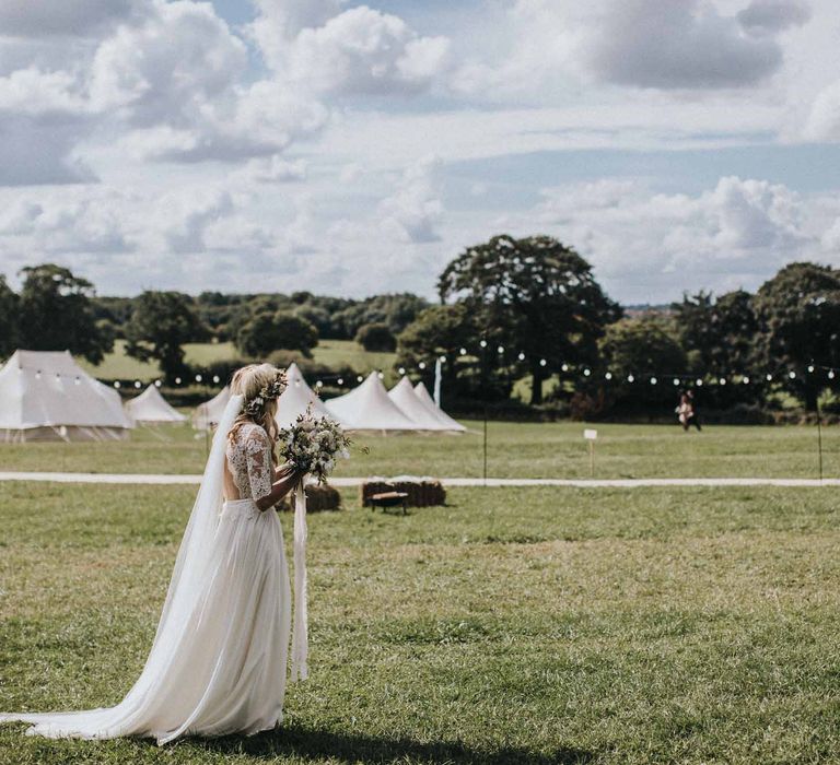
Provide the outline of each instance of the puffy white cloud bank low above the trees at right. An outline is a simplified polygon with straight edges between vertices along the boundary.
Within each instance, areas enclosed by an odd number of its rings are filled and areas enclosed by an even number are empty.
[[[591,258],[605,284],[631,302],[755,289],[790,260],[825,255],[825,223],[809,220],[808,201],[766,180],[724,177],[697,196],[614,179],[542,193],[532,215],[499,223],[542,226]]]

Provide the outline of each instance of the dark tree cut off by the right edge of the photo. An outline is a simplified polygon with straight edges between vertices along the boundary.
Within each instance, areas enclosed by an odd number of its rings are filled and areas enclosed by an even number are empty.
[[[794,378],[783,376],[785,387],[815,410],[826,376],[808,366],[840,366],[840,271],[790,263],[759,287],[754,305],[763,363],[770,372],[793,372]]]

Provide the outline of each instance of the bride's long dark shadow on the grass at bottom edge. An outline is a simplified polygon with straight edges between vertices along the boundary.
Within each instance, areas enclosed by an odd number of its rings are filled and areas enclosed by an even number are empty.
[[[452,765],[582,765],[595,755],[581,749],[560,748],[542,753],[506,746],[493,751],[471,749],[456,741],[421,742],[412,739],[339,733],[294,725],[252,737],[190,739],[200,749],[221,754],[245,754],[273,760],[278,756],[330,760],[342,763],[447,763]]]

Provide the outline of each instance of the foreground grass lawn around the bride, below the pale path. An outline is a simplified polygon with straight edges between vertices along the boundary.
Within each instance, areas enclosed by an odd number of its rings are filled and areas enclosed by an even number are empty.
[[[0,484],[0,709],[121,698],[192,496]],[[0,764],[837,761],[833,490],[465,489],[408,517],[345,498],[310,518],[312,676],[282,730],[4,726]]]

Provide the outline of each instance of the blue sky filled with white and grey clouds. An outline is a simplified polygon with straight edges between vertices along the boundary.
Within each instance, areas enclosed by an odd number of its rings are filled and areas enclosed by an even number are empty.
[[[434,297],[548,234],[623,304],[840,267],[835,0],[0,0],[0,273]]]

